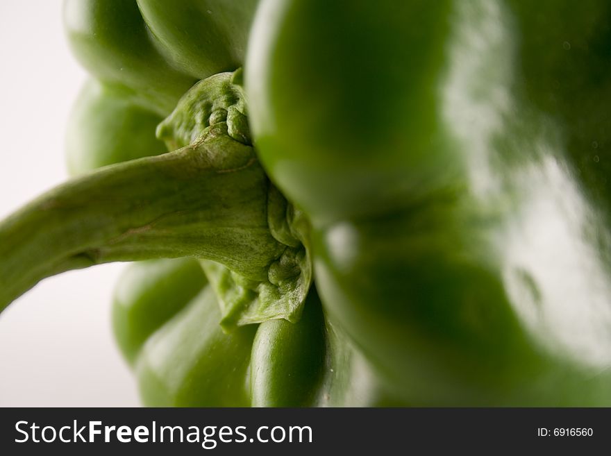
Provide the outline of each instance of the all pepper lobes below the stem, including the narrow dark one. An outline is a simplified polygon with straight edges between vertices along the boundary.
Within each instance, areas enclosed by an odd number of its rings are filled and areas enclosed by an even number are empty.
[[[115,337],[152,407],[397,405],[312,290],[299,323],[227,334],[199,262],[131,264],[117,283]]]

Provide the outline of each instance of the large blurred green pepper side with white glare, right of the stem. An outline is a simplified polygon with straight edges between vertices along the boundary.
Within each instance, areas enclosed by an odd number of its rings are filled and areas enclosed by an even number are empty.
[[[609,405],[608,3],[370,5],[264,1],[245,65],[326,310],[411,404]]]

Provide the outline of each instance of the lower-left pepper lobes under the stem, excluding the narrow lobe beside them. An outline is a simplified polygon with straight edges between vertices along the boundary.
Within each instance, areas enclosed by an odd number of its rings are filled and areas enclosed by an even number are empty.
[[[217,299],[196,260],[133,264],[119,281],[113,319],[144,404],[249,405],[256,327],[223,332]]]

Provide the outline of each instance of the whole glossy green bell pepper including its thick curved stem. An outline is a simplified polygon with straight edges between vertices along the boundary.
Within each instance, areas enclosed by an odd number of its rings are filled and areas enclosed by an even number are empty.
[[[0,308],[149,260],[147,405],[611,405],[611,5],[258,3],[66,1],[117,164],[0,224]]]

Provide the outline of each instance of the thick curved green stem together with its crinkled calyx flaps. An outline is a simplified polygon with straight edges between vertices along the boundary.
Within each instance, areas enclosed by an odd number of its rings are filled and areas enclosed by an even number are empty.
[[[211,76],[183,96],[158,128],[178,150],[71,180],[1,222],[0,310],[69,269],[196,257],[207,260],[226,330],[299,320],[309,224],[258,162],[240,75]]]

